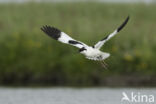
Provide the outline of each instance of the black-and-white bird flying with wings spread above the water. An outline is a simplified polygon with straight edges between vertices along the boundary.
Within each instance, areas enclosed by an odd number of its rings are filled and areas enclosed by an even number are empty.
[[[105,66],[104,60],[106,58],[108,58],[110,56],[110,54],[100,51],[100,48],[109,39],[111,39],[113,36],[115,36],[119,31],[121,31],[122,28],[127,24],[128,20],[129,20],[129,16],[113,33],[104,37],[102,40],[97,42],[94,46],[88,46],[87,44],[85,44],[81,41],[77,41],[77,40],[71,38],[69,35],[67,35],[63,31],[61,31],[55,27],[45,25],[41,28],[41,30],[44,33],[46,33],[48,36],[50,36],[51,38],[53,38],[59,42],[62,42],[65,44],[70,44],[72,46],[79,48],[79,52],[81,54],[83,54],[87,59],[100,61],[102,63],[102,65]]]

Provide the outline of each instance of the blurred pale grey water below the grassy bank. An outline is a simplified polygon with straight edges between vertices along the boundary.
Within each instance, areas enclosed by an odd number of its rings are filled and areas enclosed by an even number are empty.
[[[156,97],[154,88],[0,88],[0,104],[122,104],[123,92]]]

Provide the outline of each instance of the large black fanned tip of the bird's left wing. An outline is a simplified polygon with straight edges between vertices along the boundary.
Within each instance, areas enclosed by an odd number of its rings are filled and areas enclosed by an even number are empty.
[[[55,27],[50,27],[46,25],[43,26],[41,30],[55,40],[58,40],[58,38],[61,36],[61,31]]]

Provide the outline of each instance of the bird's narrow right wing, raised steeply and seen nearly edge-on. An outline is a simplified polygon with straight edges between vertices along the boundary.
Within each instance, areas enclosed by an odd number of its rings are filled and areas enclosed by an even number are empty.
[[[120,30],[122,30],[122,28],[127,24],[129,20],[129,16],[126,18],[126,20],[122,23],[122,25],[120,25],[120,27],[118,29],[116,29],[113,33],[107,35],[105,38],[103,38],[101,41],[99,41],[98,43],[96,43],[94,45],[94,48],[96,49],[100,49],[105,42],[107,42],[110,38],[112,38],[113,36],[115,36]]]

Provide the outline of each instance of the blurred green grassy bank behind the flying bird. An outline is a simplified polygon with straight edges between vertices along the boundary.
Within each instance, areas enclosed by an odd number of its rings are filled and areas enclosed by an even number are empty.
[[[0,84],[155,86],[155,10],[144,4],[0,4]],[[94,45],[128,15],[127,26],[102,48],[111,53],[109,70],[40,30],[55,26]]]

